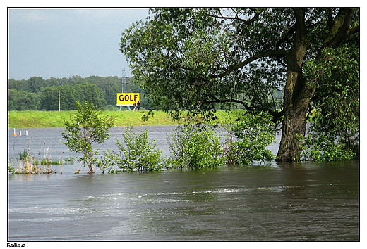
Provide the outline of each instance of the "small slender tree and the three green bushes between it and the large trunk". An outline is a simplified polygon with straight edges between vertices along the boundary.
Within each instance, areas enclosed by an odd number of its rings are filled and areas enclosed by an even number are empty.
[[[168,158],[162,158],[162,150],[155,141],[149,140],[148,130],[141,134],[133,132],[133,127],[126,127],[122,134],[123,141],[116,139],[118,152],[104,151],[102,156],[92,148],[92,143],[102,143],[109,139],[108,130],[114,126],[114,119],[102,115],[102,110],[85,101],[77,103],[78,112],[65,122],[62,132],[71,151],[83,155],[78,161],[88,166],[89,173],[95,173],[94,167],[102,172],[121,171],[147,172],[166,168],[204,169],[222,165],[248,165],[249,162],[272,160],[274,156],[266,147],[275,141],[275,123],[267,113],[243,113],[234,122],[228,119],[223,123],[229,134],[233,134],[226,143],[219,143],[220,136],[215,127],[217,123],[179,125],[167,137]],[[225,124],[225,125],[224,125]],[[118,167],[118,169],[116,169]]]

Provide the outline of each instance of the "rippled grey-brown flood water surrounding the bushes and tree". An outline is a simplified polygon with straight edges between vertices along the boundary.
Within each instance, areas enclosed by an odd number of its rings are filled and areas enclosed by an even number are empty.
[[[172,127],[147,128],[168,155]],[[53,159],[76,156],[59,141],[62,128],[21,130],[8,130],[10,159],[28,146],[35,158],[47,148]],[[101,150],[122,132],[111,129]],[[76,167],[8,176],[8,241],[359,241],[359,161],[92,175]]]

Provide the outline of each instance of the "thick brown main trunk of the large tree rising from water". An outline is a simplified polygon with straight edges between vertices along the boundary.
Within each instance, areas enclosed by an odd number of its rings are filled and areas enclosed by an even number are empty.
[[[307,47],[304,12],[295,9],[296,35],[287,55],[287,82],[284,87],[284,120],[278,161],[292,161],[301,155],[299,136],[306,134],[306,114],[315,86],[307,84],[302,75],[302,63]]]

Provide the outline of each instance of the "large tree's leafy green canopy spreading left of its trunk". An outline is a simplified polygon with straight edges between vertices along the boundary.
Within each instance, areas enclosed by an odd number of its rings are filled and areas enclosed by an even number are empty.
[[[120,44],[135,75],[133,81],[141,84],[152,104],[172,117],[179,117],[180,110],[194,116],[200,111],[212,113],[233,103],[241,108],[275,110],[278,103],[272,93],[285,81],[284,66],[277,65],[275,57],[279,52],[269,54],[269,60],[250,55],[272,50],[268,41],[279,39],[293,25],[291,10],[180,8],[152,12],[145,23],[131,25]],[[251,20],[260,13],[262,18]],[[255,60],[258,63],[251,63]]]

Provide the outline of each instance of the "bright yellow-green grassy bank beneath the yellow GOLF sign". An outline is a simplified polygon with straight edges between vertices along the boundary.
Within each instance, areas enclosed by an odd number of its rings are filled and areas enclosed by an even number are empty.
[[[9,111],[8,112],[8,128],[42,128],[42,127],[65,127],[64,122],[68,120],[70,115],[76,113],[76,110],[59,111]],[[126,127],[128,125],[176,125],[177,122],[167,119],[167,113],[162,111],[154,111],[154,116],[150,116],[148,121],[143,121],[141,117],[148,111],[104,111],[104,115],[115,117],[115,125],[117,127]],[[227,115],[225,112],[218,111],[217,115],[220,119],[224,119]]]

